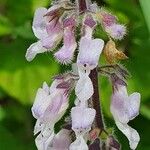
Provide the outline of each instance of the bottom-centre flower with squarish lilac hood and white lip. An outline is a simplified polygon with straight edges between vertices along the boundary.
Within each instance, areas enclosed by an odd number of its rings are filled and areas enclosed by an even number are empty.
[[[82,114],[82,117],[81,117]],[[92,108],[77,106],[71,110],[72,129],[76,134],[76,140],[70,145],[70,150],[88,150],[84,137],[91,129],[96,111]]]

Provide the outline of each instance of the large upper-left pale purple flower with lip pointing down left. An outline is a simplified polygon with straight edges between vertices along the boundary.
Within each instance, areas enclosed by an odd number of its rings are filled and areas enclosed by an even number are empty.
[[[28,61],[32,61],[39,53],[53,49],[61,41],[63,29],[59,16],[56,16],[55,13],[50,15],[50,12],[58,11],[59,7],[59,5],[54,5],[49,10],[42,7],[35,11],[32,29],[38,42],[33,43],[27,49],[26,59]]]

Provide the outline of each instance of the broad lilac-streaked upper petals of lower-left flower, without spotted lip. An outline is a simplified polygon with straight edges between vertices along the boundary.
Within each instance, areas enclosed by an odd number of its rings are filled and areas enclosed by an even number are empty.
[[[39,88],[32,106],[33,116],[43,122],[58,121],[68,106],[67,95],[64,92],[65,90],[56,87],[53,92],[48,91],[44,86]]]

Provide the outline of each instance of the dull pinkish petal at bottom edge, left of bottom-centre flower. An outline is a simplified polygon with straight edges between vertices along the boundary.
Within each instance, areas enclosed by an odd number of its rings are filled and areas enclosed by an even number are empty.
[[[51,150],[69,150],[71,144],[70,131],[66,129],[60,130],[54,137]]]

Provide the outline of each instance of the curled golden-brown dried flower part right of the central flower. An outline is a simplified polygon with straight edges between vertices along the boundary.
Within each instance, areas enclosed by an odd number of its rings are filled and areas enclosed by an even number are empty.
[[[104,55],[109,64],[113,64],[117,60],[128,58],[122,51],[117,50],[115,42],[111,39],[107,42],[104,48]]]

